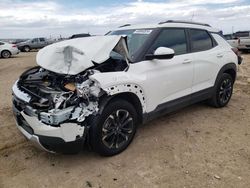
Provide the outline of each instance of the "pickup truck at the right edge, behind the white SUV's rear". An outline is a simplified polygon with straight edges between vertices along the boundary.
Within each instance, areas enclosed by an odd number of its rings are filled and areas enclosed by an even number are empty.
[[[250,31],[239,31],[224,37],[232,47],[244,52],[250,51]]]

